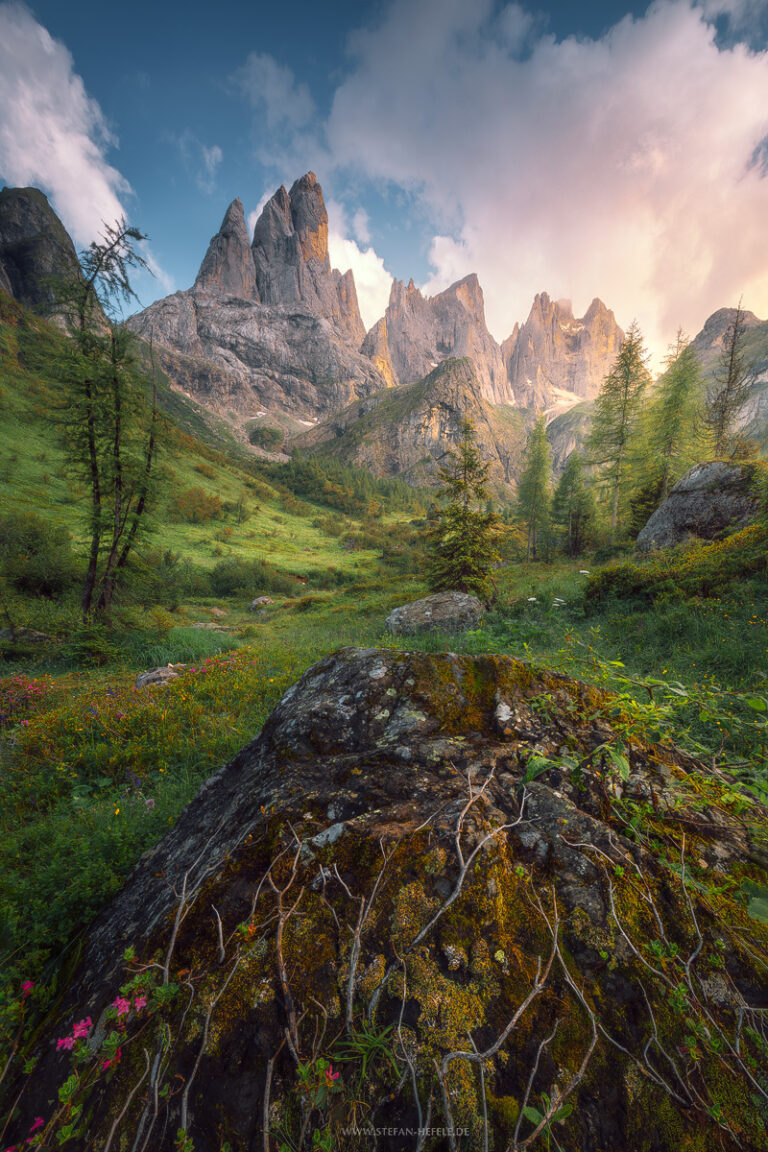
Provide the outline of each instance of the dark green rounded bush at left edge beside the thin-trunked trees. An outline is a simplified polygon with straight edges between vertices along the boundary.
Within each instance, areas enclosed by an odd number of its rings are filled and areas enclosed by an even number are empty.
[[[69,532],[33,513],[0,516],[0,575],[17,592],[61,597],[77,583]]]

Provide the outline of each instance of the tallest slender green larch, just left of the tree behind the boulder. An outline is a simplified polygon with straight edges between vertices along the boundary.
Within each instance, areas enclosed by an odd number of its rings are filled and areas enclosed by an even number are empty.
[[[619,513],[634,483],[642,400],[651,380],[646,359],[640,329],[632,321],[595,400],[587,440],[590,461],[598,465],[598,483],[610,502],[611,544],[616,541]]]

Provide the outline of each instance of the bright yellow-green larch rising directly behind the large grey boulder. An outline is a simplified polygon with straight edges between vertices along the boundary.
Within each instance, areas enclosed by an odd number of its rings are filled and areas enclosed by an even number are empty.
[[[657,488],[659,502],[701,458],[704,447],[701,364],[682,328],[664,363],[666,371],[654,388],[647,422],[652,473],[647,486]]]

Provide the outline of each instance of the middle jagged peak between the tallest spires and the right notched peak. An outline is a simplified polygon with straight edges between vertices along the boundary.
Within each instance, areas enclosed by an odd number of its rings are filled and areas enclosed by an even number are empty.
[[[482,289],[474,274],[438,296],[423,296],[412,280],[408,287],[395,280],[385,319],[398,384],[420,380],[444,359],[467,357],[489,403],[514,402],[501,349],[486,327]]]

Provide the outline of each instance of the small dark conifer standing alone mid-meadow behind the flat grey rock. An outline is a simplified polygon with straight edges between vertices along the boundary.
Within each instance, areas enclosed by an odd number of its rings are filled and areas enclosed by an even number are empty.
[[[427,582],[433,592],[472,592],[487,599],[497,517],[481,510],[488,499],[488,464],[477,446],[471,420],[462,423],[461,440],[440,469],[447,502],[431,523]]]

